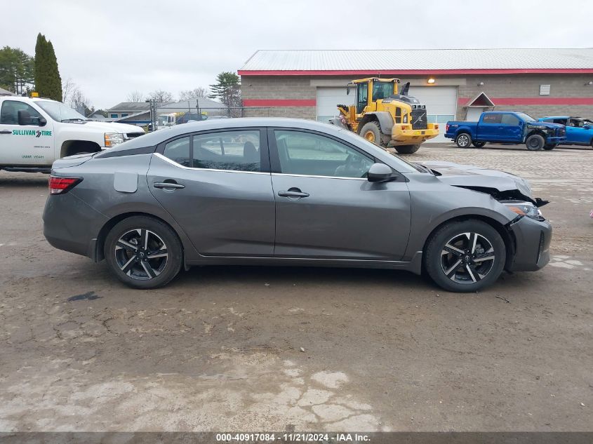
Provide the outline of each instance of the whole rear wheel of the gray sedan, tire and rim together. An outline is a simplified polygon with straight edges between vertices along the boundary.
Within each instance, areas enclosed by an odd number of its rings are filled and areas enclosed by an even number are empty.
[[[115,225],[105,239],[105,259],[112,274],[133,288],[158,288],[179,273],[181,242],[167,224],[133,216]]]

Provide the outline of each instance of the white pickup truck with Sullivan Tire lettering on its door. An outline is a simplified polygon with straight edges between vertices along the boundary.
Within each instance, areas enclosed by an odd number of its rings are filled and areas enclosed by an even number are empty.
[[[134,125],[90,121],[55,100],[0,95],[0,170],[49,173],[57,159],[143,134]]]

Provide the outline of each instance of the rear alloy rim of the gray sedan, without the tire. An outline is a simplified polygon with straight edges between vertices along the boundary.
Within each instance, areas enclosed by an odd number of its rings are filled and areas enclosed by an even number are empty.
[[[115,261],[119,269],[133,279],[147,281],[165,269],[168,253],[163,239],[147,229],[132,229],[115,244]]]

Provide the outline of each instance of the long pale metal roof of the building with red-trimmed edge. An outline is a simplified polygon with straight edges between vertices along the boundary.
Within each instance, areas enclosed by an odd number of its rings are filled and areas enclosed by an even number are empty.
[[[245,62],[239,74],[469,70],[593,72],[593,48],[260,50]]]

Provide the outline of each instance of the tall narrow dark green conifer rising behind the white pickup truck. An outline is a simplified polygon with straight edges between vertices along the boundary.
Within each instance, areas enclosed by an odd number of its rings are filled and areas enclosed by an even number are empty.
[[[53,44],[41,33],[35,45],[35,89],[41,97],[62,100],[62,79]]]

